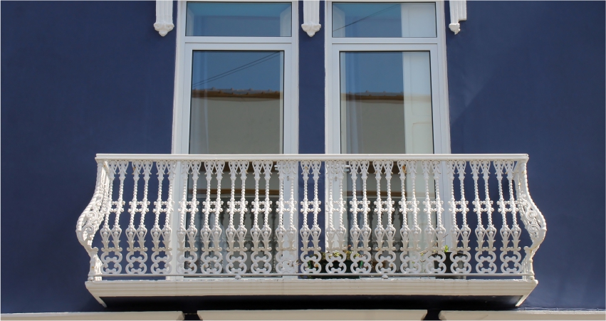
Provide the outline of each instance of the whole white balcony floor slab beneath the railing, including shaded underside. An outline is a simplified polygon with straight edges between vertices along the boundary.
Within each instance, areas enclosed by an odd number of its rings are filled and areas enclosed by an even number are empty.
[[[255,307],[257,300],[396,300],[402,308],[432,302],[460,305],[474,302],[511,308],[520,305],[532,292],[536,280],[453,280],[433,278],[192,278],[181,280],[98,280],[85,283],[90,293],[103,305],[120,303],[189,302],[211,305],[213,302],[236,300]],[[199,305],[197,305],[198,303]],[[408,303],[408,304],[406,304]],[[437,304],[438,304],[437,303]],[[288,306],[287,303],[283,305]],[[425,306],[423,308],[425,308]],[[198,308],[198,307],[196,307]]]

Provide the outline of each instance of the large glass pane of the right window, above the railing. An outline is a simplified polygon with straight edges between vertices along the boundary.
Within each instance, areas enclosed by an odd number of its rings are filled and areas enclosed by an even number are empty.
[[[340,53],[341,152],[434,152],[428,51]]]

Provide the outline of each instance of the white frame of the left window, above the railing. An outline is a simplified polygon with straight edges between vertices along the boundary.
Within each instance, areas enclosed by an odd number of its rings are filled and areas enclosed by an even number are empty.
[[[175,53],[172,154],[189,154],[189,112],[191,110],[191,75],[193,51],[284,51],[284,102],[282,153],[298,153],[298,3],[290,2],[292,30],[290,37],[211,37],[185,36],[187,2],[177,3],[177,51]],[[199,2],[237,2],[210,0]],[[263,2],[263,1],[258,1]],[[238,120],[234,116],[234,122]]]

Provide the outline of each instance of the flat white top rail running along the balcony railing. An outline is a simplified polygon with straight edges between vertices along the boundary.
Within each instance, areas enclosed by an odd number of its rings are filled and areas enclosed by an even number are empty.
[[[104,160],[517,160],[527,161],[528,154],[97,154]]]

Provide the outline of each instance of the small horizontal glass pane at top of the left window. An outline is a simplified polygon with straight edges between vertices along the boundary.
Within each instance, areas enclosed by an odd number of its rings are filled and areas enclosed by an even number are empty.
[[[185,36],[290,37],[291,4],[188,2]]]

